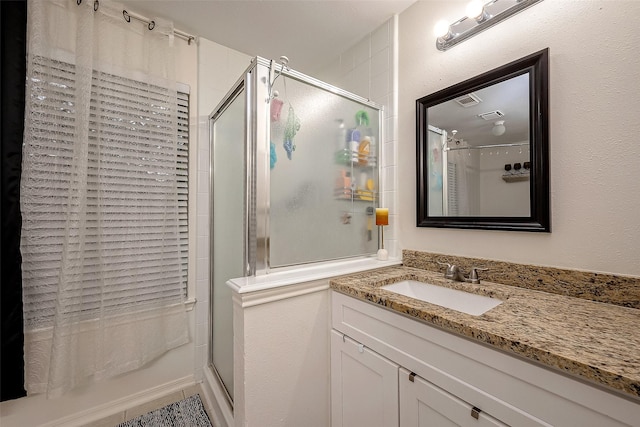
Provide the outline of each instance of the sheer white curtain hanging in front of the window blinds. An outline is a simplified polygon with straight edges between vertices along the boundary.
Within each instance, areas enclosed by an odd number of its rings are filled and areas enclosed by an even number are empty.
[[[107,0],[29,1],[29,394],[59,396],[188,342],[176,105],[171,23],[128,23]]]

